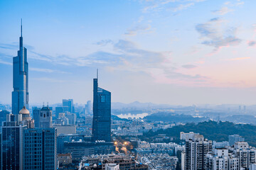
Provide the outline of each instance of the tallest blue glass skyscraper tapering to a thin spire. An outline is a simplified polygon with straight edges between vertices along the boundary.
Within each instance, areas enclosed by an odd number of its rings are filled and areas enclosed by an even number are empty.
[[[28,62],[27,50],[23,47],[22,23],[18,56],[13,59],[14,91],[12,92],[12,113],[18,115],[23,106],[28,108]]]

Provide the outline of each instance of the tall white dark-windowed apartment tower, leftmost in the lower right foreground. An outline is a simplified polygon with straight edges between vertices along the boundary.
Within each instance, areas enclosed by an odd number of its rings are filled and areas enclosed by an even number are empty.
[[[185,147],[185,169],[206,169],[206,154],[212,151],[212,141],[204,139],[203,135],[194,135],[186,140]]]

